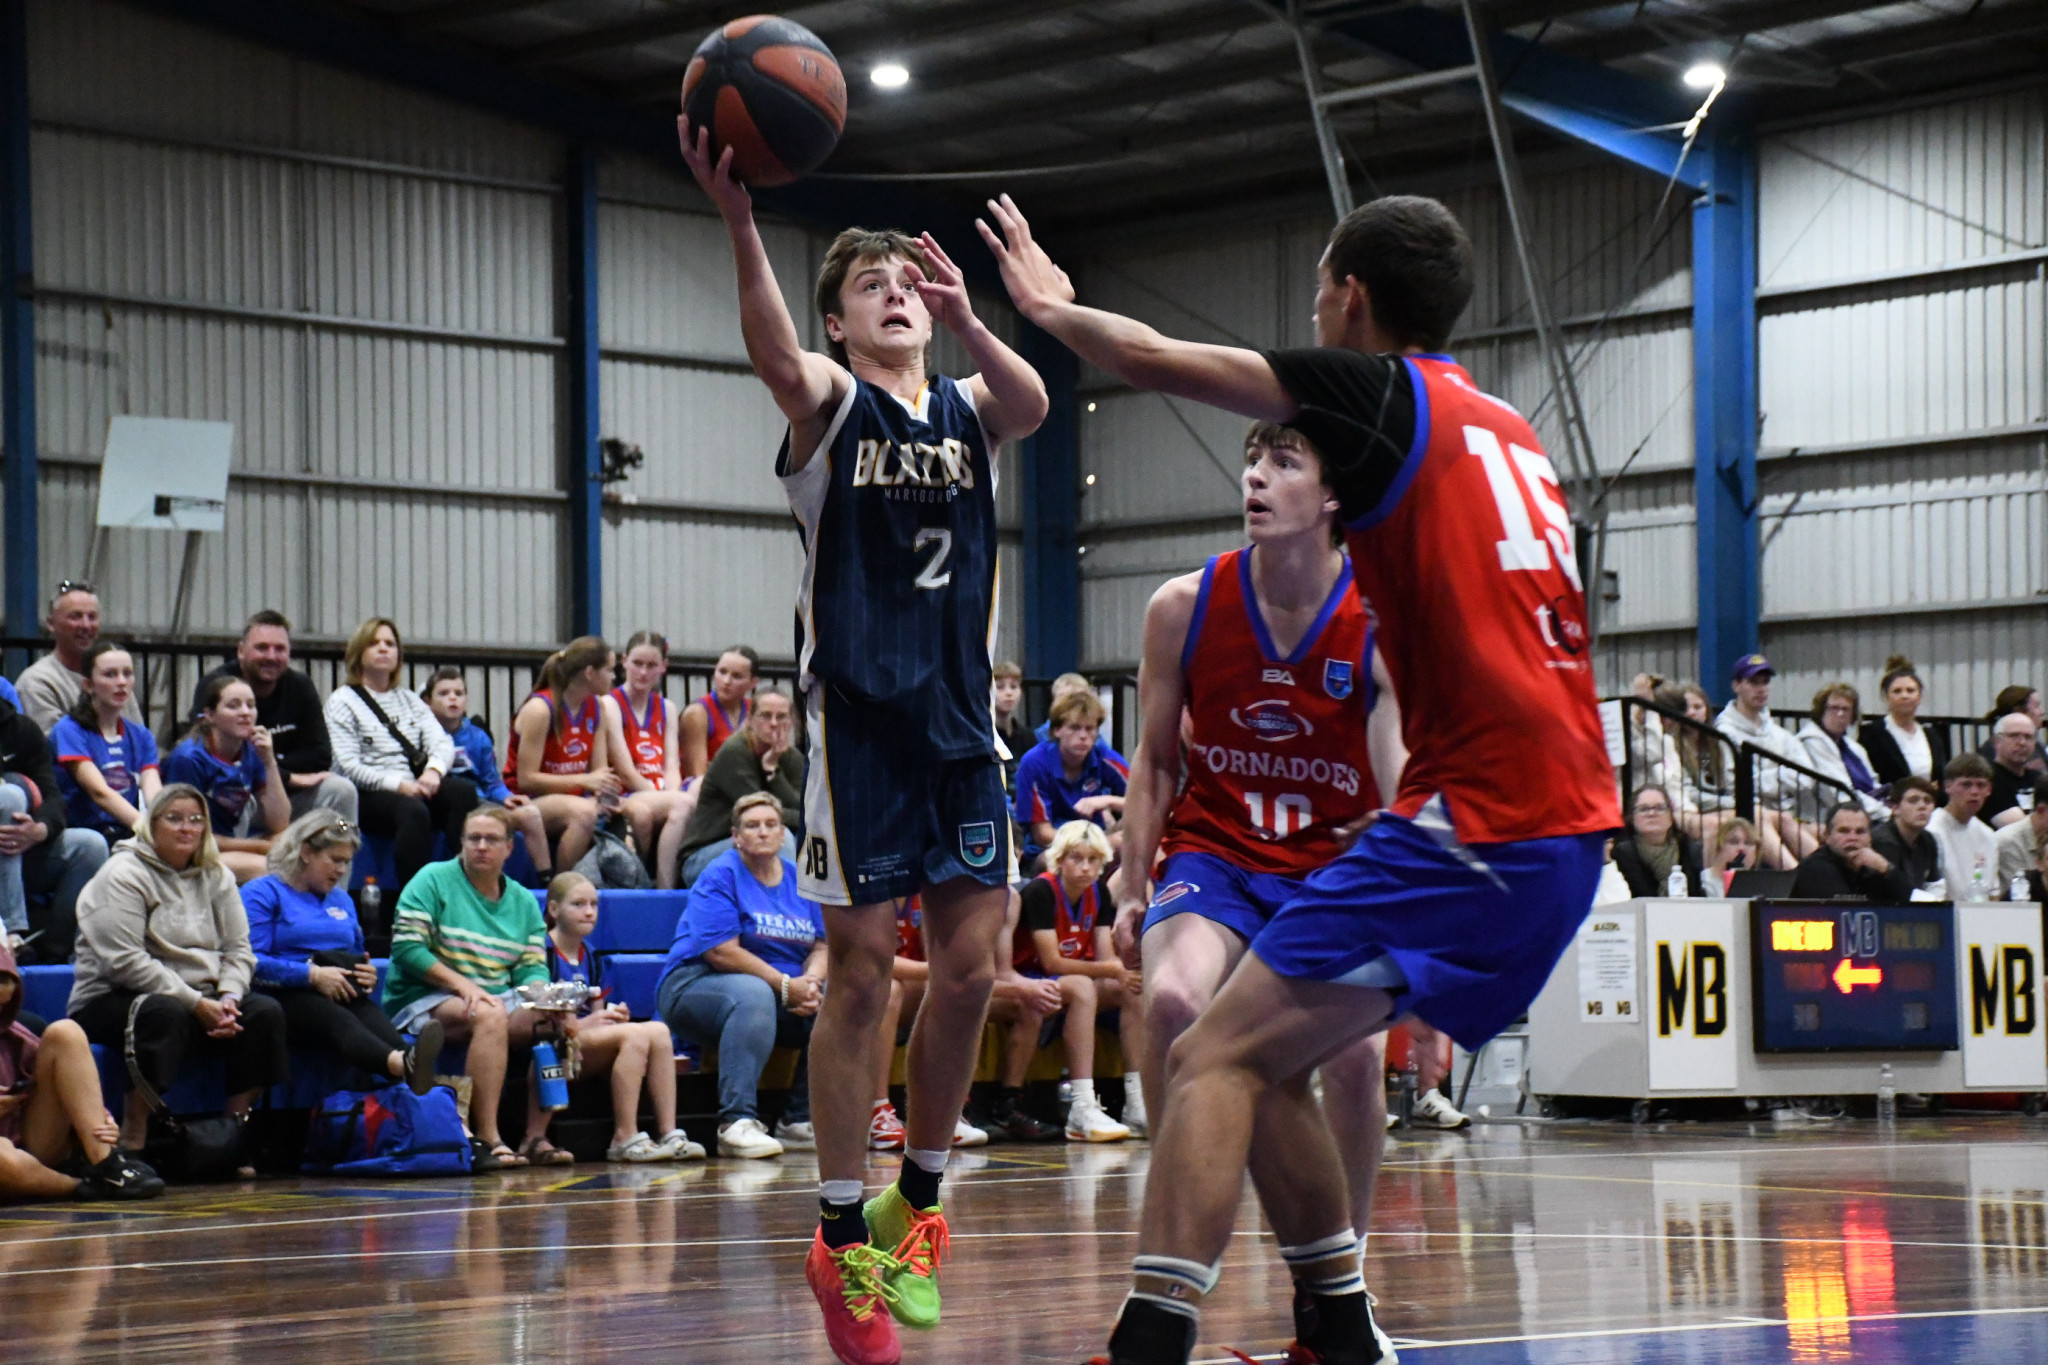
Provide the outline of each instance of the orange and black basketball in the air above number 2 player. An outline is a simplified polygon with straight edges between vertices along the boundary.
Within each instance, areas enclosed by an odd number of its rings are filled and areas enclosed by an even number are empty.
[[[711,129],[713,160],[756,188],[817,170],[846,127],[846,76],[815,33],[774,14],[713,31],[682,76],[682,113]]]

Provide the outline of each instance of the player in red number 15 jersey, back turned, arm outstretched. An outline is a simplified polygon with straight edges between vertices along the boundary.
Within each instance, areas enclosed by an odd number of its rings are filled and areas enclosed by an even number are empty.
[[[1264,354],[1079,307],[1016,205],[989,213],[1001,231],[981,233],[1028,321],[1137,389],[1284,422],[1315,444],[1405,712],[1389,812],[1280,907],[1174,1046],[1135,1283],[1106,1359],[1184,1365],[1262,1103],[1395,1013],[1479,1048],[1585,919],[1604,831],[1620,825],[1585,591],[1536,434],[1442,354],[1473,295],[1473,246],[1444,205],[1389,196],[1348,213],[1317,270],[1321,346]],[[1319,1324],[1313,1359],[1370,1365],[1382,1347],[1343,1164],[1313,1109],[1288,1158],[1290,1195],[1266,1212],[1282,1240],[1327,1252],[1290,1259]]]

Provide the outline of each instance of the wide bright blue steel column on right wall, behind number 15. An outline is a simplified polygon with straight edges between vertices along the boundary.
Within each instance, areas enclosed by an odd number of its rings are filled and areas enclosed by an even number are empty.
[[[1700,681],[1757,649],[1757,162],[1747,137],[1694,147],[1710,188],[1692,211],[1692,411]]]

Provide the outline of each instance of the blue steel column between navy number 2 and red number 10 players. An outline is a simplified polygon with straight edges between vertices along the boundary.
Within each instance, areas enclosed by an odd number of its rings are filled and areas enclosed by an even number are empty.
[[[1024,440],[1024,671],[1055,677],[1081,659],[1081,366],[1038,327],[1020,327],[1020,350],[1051,399],[1044,424]]]

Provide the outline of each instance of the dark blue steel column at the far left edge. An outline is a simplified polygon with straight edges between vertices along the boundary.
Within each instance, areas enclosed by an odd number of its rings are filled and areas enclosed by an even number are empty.
[[[29,250],[29,2],[0,0],[0,463],[6,632],[37,632],[35,256]],[[18,659],[8,659],[12,673]]]

